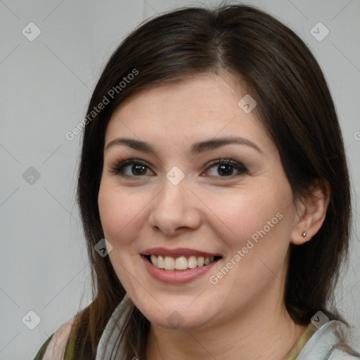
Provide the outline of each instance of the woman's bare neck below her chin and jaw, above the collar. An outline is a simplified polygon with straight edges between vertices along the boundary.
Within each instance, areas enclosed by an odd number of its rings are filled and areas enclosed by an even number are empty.
[[[281,305],[275,306],[262,299],[216,326],[180,330],[151,324],[146,359],[284,359],[307,326],[295,324],[278,297]]]

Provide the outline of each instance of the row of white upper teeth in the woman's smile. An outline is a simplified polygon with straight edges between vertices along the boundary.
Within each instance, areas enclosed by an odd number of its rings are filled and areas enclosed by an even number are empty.
[[[150,262],[158,267],[159,269],[165,270],[186,270],[186,269],[194,269],[196,266],[204,266],[208,265],[214,261],[214,257],[196,257],[195,255],[191,255],[188,258],[185,256],[180,257],[170,257],[162,255],[150,255]]]

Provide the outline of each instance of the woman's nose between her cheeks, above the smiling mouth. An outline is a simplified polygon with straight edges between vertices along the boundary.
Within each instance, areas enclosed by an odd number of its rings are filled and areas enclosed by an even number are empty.
[[[199,201],[184,180],[174,185],[165,179],[165,186],[151,202],[150,226],[167,236],[200,226]]]

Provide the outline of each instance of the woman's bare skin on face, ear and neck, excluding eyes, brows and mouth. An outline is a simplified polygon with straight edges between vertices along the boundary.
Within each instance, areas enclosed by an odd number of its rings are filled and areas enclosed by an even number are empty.
[[[294,200],[278,150],[256,108],[238,101],[243,82],[228,73],[203,73],[146,89],[128,98],[111,118],[105,147],[119,137],[146,141],[156,153],[124,145],[104,151],[98,207],[110,261],[136,307],[150,321],[146,359],[283,359],[307,326],[290,319],[283,303],[290,243],[311,239],[323,223],[328,195],[315,188]],[[198,155],[191,145],[241,136],[251,146],[228,144]],[[146,162],[144,174],[111,173],[118,160]],[[232,158],[221,174],[212,160]],[[166,174],[184,172],[174,185]],[[229,168],[228,168],[229,169]],[[280,213],[282,218],[216,284],[210,276],[226,266],[251,236]],[[307,231],[307,236],[302,233]],[[192,248],[223,257],[205,276],[164,284],[148,274],[140,254],[153,247]],[[167,317],[179,313],[181,326]]]

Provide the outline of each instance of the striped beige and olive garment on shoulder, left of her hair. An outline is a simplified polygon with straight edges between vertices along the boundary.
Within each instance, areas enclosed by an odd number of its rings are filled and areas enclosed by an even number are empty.
[[[74,318],[63,323],[63,325],[56,330],[56,333],[53,333],[53,335],[44,342],[44,345],[41,346],[34,360],[63,360],[73,325]]]

